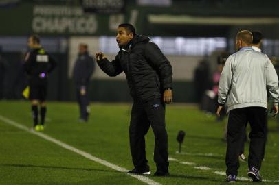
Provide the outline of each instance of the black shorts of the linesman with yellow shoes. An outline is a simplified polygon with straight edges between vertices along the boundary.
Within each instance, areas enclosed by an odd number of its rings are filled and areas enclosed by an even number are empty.
[[[47,84],[30,85],[30,100],[45,101],[47,98]]]

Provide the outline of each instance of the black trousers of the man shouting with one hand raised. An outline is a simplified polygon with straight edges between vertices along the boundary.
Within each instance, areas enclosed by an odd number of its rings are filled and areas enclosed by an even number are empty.
[[[160,99],[140,103],[134,100],[130,122],[130,149],[135,168],[147,165],[144,136],[149,127],[155,135],[154,161],[159,171],[168,171],[168,134],[165,124],[165,104]]]

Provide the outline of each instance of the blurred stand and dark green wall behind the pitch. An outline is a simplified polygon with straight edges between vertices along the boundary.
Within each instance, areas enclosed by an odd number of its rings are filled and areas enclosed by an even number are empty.
[[[261,0],[3,0],[0,1],[0,99],[22,99],[27,85],[23,58],[27,37],[58,61],[49,77],[49,100],[75,99],[72,69],[83,42],[89,52],[118,53],[120,23],[135,25],[150,36],[172,64],[174,101],[201,103],[214,110],[218,73],[234,50],[242,29],[263,33],[263,52],[278,69],[279,1]],[[116,90],[117,89],[117,90]],[[107,77],[96,67],[91,77],[92,101],[129,102],[124,74]],[[213,107],[212,107],[213,105]]]

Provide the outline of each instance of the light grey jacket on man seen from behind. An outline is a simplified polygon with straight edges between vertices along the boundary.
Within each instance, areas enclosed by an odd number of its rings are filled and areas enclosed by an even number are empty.
[[[278,104],[278,77],[265,54],[243,47],[227,58],[220,77],[218,103],[227,103],[228,112],[252,106],[267,108],[267,91],[271,101]]]

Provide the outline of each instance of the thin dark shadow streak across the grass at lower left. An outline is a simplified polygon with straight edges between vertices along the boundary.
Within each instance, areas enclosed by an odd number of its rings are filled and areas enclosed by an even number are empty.
[[[45,165],[33,165],[33,164],[0,164],[0,167],[20,167],[20,168],[41,168],[41,169],[67,169],[67,170],[82,170],[82,171],[101,171],[101,172],[112,172],[112,173],[122,173],[120,171],[113,170],[103,170],[103,169],[89,169],[89,168],[73,168],[73,167],[55,167],[55,166],[45,166]]]

